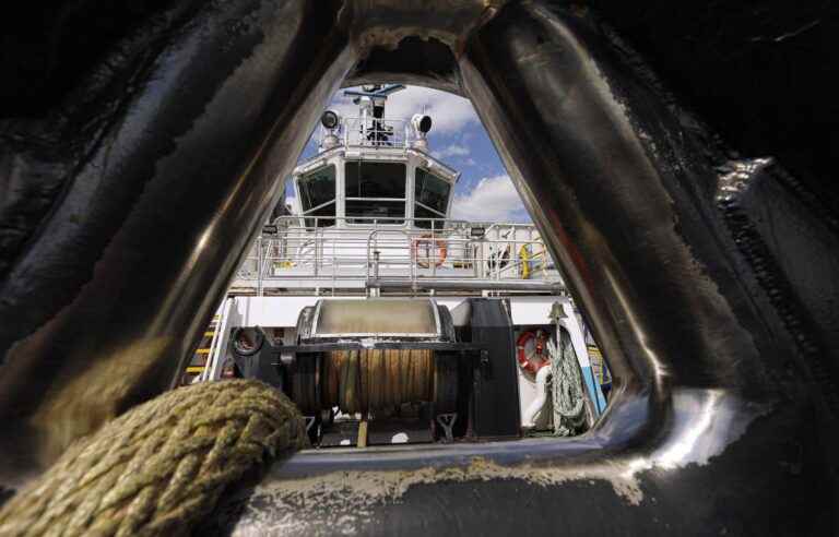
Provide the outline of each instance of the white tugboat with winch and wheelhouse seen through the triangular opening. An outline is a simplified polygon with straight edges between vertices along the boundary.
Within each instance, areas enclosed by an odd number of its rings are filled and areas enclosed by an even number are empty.
[[[323,112],[184,383],[268,382],[315,448],[584,432],[608,372],[544,241],[450,217],[460,174],[429,151],[433,118],[386,116],[403,88]]]

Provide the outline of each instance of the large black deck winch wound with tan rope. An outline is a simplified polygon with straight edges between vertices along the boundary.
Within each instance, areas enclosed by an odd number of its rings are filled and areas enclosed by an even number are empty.
[[[428,298],[321,299],[294,332],[287,344],[237,330],[231,346],[243,377],[297,404],[315,445],[520,434],[503,300],[470,298],[450,311]]]

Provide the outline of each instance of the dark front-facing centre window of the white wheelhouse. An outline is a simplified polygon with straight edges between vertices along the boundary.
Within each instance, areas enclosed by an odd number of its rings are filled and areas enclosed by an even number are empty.
[[[350,224],[403,224],[405,165],[352,160],[345,169],[345,214]]]

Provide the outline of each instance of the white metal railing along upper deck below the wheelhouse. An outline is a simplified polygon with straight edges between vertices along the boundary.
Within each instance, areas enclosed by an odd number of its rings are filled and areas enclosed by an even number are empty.
[[[342,220],[340,217],[323,219]],[[308,226],[306,224],[309,224]],[[432,285],[560,282],[535,227],[442,218],[376,218],[319,227],[318,217],[286,216],[257,238],[235,287],[364,287],[377,281]]]

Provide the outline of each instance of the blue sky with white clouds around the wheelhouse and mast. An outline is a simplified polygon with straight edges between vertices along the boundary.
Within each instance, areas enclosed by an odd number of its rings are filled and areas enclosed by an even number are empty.
[[[352,97],[339,92],[328,107],[341,116],[357,117]],[[466,220],[530,222],[516,188],[510,181],[489,136],[469,99],[422,86],[409,86],[390,96],[386,119],[410,119],[414,114],[432,117],[428,133],[432,154],[461,172],[454,188],[452,217]],[[318,129],[300,156],[305,160],[318,152]],[[294,195],[291,184],[286,200]]]

